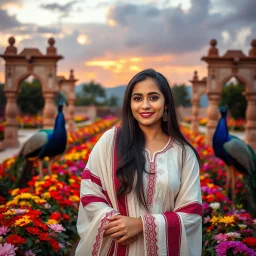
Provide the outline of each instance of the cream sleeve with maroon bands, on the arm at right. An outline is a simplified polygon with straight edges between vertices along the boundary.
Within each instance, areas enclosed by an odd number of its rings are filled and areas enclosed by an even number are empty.
[[[199,165],[188,149],[175,208],[141,216],[146,256],[199,256],[202,250],[202,197]]]

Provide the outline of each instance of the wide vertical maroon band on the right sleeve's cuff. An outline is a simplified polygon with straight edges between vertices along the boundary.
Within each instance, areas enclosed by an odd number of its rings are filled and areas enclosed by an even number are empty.
[[[163,216],[166,222],[167,255],[179,256],[181,242],[181,223],[179,215],[175,212],[165,212]]]

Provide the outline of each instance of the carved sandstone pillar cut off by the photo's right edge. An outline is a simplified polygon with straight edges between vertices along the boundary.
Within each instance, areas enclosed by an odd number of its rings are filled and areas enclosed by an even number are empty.
[[[245,142],[256,150],[256,92],[246,93]]]

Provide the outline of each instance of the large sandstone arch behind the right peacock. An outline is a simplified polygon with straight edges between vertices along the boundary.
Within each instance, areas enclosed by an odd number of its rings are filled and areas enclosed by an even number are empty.
[[[245,86],[245,97],[248,103],[245,141],[256,150],[256,39],[251,41],[248,56],[241,50],[228,50],[223,56],[219,56],[219,50],[216,46],[217,40],[212,39],[208,55],[201,58],[208,64],[206,94],[209,106],[207,108],[206,141],[212,145],[212,137],[219,119],[218,104],[223,84],[231,77],[236,77]],[[193,88],[196,87],[196,79],[191,82]],[[193,102],[192,104],[195,107]]]

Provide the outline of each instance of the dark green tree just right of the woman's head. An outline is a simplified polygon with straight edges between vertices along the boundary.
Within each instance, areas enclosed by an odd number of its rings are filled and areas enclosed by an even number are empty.
[[[185,84],[177,85],[175,84],[172,88],[172,95],[174,98],[174,102],[176,107],[183,106],[183,107],[190,107],[190,99],[188,95],[188,91]]]

